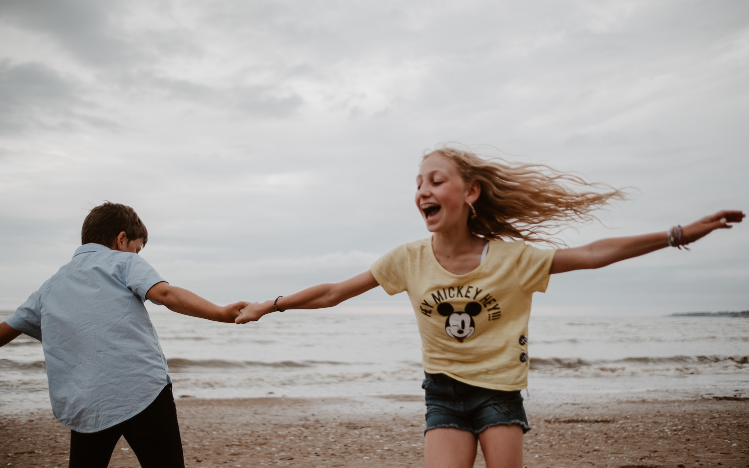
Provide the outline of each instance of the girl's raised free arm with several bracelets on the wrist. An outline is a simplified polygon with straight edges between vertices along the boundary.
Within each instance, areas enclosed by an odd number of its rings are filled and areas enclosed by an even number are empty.
[[[718,211],[690,225],[685,225],[682,228],[682,234],[688,243],[693,243],[715,229],[730,228],[731,222],[742,222],[744,216],[745,214],[741,211]],[[668,232],[664,231],[640,236],[610,237],[596,240],[585,246],[560,249],[554,254],[549,273],[601,268],[627,258],[655,252],[655,250],[669,246],[668,237]]]

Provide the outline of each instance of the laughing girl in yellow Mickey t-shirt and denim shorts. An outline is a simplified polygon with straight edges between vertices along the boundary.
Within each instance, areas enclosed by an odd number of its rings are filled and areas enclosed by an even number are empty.
[[[570,186],[581,188],[580,191]],[[382,286],[407,291],[422,338],[425,465],[471,467],[481,442],[487,467],[523,467],[530,430],[520,391],[527,386],[531,296],[549,275],[600,268],[730,228],[744,213],[720,211],[666,232],[598,240],[571,249],[550,236],[619,190],[593,192],[579,177],[545,165],[485,160],[455,148],[427,154],[416,176],[416,207],[431,237],[387,252],[369,271],[242,309],[237,323],[286,309],[319,309]]]

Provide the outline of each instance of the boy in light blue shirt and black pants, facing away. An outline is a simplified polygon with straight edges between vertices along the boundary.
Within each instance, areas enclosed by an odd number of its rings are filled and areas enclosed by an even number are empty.
[[[232,323],[247,303],[219,307],[164,281],[137,255],[148,231],[131,207],[95,207],[81,239],[70,263],[0,323],[0,346],[21,333],[42,342],[71,468],[106,467],[120,436],[144,468],[184,467],[172,379],[143,303]]]

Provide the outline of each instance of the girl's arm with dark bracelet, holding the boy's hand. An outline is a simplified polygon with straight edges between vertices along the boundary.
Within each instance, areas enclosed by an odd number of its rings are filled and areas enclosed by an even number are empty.
[[[364,273],[339,283],[312,286],[312,288],[306,288],[298,293],[279,297],[276,300],[276,306],[282,311],[286,309],[324,309],[337,306],[343,301],[366,293],[366,291],[379,285],[372,272],[366,270]],[[276,312],[273,300],[267,300],[264,303],[251,303],[240,310],[240,315],[234,322],[254,322],[263,315],[270,314],[270,312]]]

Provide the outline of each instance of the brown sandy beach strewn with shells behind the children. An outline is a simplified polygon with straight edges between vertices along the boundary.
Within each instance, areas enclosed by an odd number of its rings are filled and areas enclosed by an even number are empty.
[[[749,467],[749,400],[527,401],[526,467]],[[422,398],[178,398],[187,467],[422,467]],[[2,466],[67,467],[51,411],[2,416]],[[120,440],[110,467],[139,467]],[[476,467],[485,466],[479,453]]]

